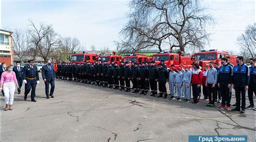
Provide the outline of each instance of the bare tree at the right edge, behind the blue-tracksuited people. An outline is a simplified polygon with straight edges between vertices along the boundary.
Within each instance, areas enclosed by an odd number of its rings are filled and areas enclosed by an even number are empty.
[[[245,59],[254,58],[256,53],[256,23],[248,25],[244,33],[238,37],[237,41],[241,49],[241,53]]]

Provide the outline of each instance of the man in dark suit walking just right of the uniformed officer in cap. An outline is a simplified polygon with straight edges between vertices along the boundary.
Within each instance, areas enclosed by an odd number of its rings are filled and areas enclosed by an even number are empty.
[[[55,70],[53,69],[53,66],[51,65],[51,60],[47,60],[46,64],[42,67],[42,77],[45,84],[45,94],[46,98],[49,99],[49,84],[51,84],[51,90],[50,90],[50,96],[51,98],[54,98],[53,91],[55,88]]]

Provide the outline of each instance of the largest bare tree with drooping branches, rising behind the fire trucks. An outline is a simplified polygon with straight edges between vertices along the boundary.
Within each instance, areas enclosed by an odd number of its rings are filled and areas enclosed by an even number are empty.
[[[197,0],[132,0],[130,8],[133,10],[130,20],[120,32],[124,41],[118,44],[133,50],[157,46],[161,51],[161,44],[167,38],[172,41],[170,49],[201,48],[209,37],[205,25],[214,22]]]

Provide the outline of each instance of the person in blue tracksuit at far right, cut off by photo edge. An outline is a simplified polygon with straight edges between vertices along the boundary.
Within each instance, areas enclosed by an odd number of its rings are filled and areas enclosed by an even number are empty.
[[[254,109],[254,101],[253,101],[253,92],[254,96],[256,94],[256,59],[250,59],[251,67],[250,70],[250,83],[248,86],[248,98],[250,101],[250,105],[246,107],[246,109]],[[256,110],[256,109],[254,109]]]

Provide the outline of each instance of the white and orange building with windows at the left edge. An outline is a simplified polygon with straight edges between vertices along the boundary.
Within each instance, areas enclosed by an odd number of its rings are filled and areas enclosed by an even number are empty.
[[[0,61],[7,65],[14,62],[12,32],[0,29]]]

